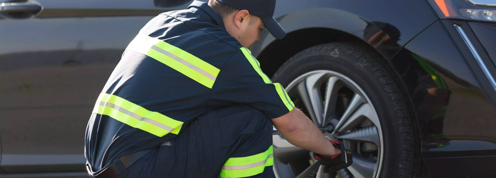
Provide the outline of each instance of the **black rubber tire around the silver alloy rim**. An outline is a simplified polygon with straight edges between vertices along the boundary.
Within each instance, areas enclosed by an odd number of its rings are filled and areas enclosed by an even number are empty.
[[[406,95],[387,62],[367,51],[354,43],[313,46],[286,61],[272,81],[286,87],[310,71],[344,74],[365,91],[379,117],[384,145],[380,178],[425,177],[419,132]]]

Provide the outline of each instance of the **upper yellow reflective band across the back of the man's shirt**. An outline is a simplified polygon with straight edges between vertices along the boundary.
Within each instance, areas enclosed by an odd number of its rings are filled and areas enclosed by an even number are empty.
[[[142,34],[138,34],[126,49],[150,56],[210,89],[220,72],[176,46]]]

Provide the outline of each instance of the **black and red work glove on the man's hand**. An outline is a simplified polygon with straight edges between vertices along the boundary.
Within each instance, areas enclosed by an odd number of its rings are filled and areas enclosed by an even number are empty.
[[[319,160],[322,165],[324,165],[324,173],[336,172],[344,168],[348,168],[351,164],[353,164],[353,157],[351,156],[351,151],[346,148],[342,141],[334,141],[332,145],[336,148],[341,149],[341,153],[333,155],[331,157],[322,156],[317,154],[315,159]]]

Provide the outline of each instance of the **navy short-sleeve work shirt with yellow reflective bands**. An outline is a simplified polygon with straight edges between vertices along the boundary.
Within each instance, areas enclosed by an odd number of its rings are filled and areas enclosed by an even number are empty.
[[[99,170],[113,160],[181,134],[209,109],[249,104],[268,118],[294,108],[248,48],[205,2],[162,13],[130,42],[86,131],[86,157]]]

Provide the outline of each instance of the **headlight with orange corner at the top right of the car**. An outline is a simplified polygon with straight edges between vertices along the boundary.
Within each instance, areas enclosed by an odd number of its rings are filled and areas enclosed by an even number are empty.
[[[429,0],[441,18],[496,22],[496,0]]]

